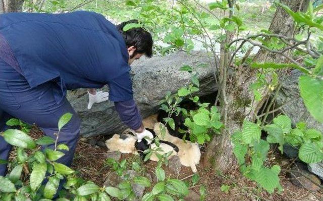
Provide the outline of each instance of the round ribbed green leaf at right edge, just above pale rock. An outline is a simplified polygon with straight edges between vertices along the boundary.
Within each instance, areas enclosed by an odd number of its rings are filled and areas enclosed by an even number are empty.
[[[318,163],[323,160],[323,153],[316,143],[304,143],[299,148],[298,157],[305,163]]]

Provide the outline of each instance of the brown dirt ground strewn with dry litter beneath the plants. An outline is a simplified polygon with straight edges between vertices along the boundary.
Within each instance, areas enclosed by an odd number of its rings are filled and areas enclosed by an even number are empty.
[[[97,137],[97,140],[104,140],[103,136]],[[106,176],[111,171],[109,168],[104,167],[105,157],[104,154],[107,152],[106,148],[91,146],[86,142],[79,140],[75,158],[73,161],[72,168],[79,171],[84,179],[92,180],[99,185],[103,185]],[[202,153],[203,157],[203,153]],[[275,156],[269,157],[271,161],[269,163],[279,164],[280,160]],[[139,160],[134,155],[122,155],[122,159],[127,159],[130,164],[134,160]],[[286,161],[286,159],[284,159]],[[202,159],[201,159],[202,161]],[[155,162],[144,163],[144,168],[147,172],[152,172],[156,166]],[[286,165],[289,166],[289,165]],[[163,167],[167,173],[170,171]],[[191,188],[191,190],[199,193],[200,185],[204,185],[207,189],[206,200],[319,200],[318,198],[323,197],[323,190],[311,193],[308,190],[297,187],[290,182],[290,179],[283,173],[281,173],[281,184],[284,188],[282,194],[273,193],[269,194],[257,186],[255,182],[252,182],[244,178],[239,170],[232,172],[230,175],[221,175],[215,170],[205,168],[202,165],[197,166],[198,173],[200,176],[199,183]],[[192,171],[189,167],[183,167],[179,175],[172,175],[178,179],[184,179],[191,181]],[[221,191],[223,184],[229,185],[230,189],[228,192]],[[316,196],[316,197],[315,197]]]

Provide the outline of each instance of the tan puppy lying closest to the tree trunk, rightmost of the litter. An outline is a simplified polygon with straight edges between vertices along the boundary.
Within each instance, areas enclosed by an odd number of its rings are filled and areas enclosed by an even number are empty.
[[[198,144],[190,141],[184,142],[182,139],[170,135],[166,127],[165,136],[163,137],[160,132],[163,126],[162,123],[155,123],[153,130],[156,135],[159,139],[169,141],[178,146],[179,152],[177,156],[180,158],[181,164],[186,167],[191,167],[193,172],[197,172],[196,165],[199,164],[201,159],[201,151]]]

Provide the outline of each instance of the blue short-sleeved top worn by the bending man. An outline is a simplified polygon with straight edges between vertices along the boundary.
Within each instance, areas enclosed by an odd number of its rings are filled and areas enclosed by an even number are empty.
[[[55,81],[65,95],[108,84],[112,101],[132,99],[126,44],[100,14],[8,13],[0,15],[0,34],[31,87]]]

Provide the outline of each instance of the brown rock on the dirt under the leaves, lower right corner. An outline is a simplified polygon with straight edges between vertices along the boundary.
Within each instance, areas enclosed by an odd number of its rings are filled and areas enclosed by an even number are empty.
[[[294,185],[299,187],[305,187],[307,190],[314,191],[314,192],[320,189],[320,187],[318,187],[312,182],[314,181],[315,183],[320,184],[321,182],[319,178],[316,175],[308,172],[306,165],[302,163],[295,163],[295,165],[291,168],[291,170],[294,172],[289,173],[289,176],[292,179],[291,181]],[[306,175],[307,177],[310,178],[310,180],[305,178],[302,174],[296,171]]]

